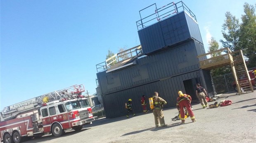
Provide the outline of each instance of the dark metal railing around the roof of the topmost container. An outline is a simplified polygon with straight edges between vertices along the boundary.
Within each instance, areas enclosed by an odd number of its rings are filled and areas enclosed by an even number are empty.
[[[155,7],[154,13],[142,18],[141,12],[144,11],[145,9],[152,7],[152,6]],[[171,2],[159,9],[156,7],[156,3],[154,3],[153,5],[150,5],[150,6],[139,11],[140,20],[136,21],[137,30],[143,29],[153,23],[156,23],[156,21],[161,21],[161,19],[164,19],[173,14],[178,14],[179,12],[183,12],[183,11],[187,12],[187,14],[189,14],[192,17],[192,19],[197,22],[197,18],[194,15],[194,13],[182,1],[180,1],[176,4],[174,2]],[[156,21],[153,21],[154,19],[156,19]]]

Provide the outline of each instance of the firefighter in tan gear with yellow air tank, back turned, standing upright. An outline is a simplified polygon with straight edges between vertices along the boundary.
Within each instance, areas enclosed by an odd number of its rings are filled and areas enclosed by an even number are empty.
[[[159,127],[159,122],[161,127],[166,127],[167,125],[164,122],[163,105],[167,104],[167,102],[161,97],[158,97],[157,92],[154,92],[153,104],[154,104],[153,114],[154,114],[156,127]]]

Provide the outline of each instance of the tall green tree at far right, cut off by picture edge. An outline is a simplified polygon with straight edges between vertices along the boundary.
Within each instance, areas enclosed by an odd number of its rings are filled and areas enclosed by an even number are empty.
[[[256,15],[255,7],[244,4],[244,15],[240,25],[239,46],[247,58],[248,68],[256,67]]]

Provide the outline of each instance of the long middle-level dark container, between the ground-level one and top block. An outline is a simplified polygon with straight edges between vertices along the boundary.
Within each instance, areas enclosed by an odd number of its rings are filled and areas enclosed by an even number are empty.
[[[164,78],[199,70],[197,55],[204,53],[204,46],[190,40],[175,48],[166,48],[154,55],[136,60],[136,65],[106,73],[97,73],[101,94],[106,95]]]

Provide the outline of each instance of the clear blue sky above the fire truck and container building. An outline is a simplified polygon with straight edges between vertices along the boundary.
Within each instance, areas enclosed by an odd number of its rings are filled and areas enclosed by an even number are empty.
[[[1,0],[0,109],[71,85],[96,92],[96,65],[108,49],[140,44],[139,11],[169,0]],[[179,1],[174,1],[179,2]],[[225,12],[240,18],[244,2],[183,0],[208,40],[223,39]],[[153,12],[152,12],[153,13]],[[148,13],[148,14],[152,14]],[[240,20],[241,21],[241,20]]]

